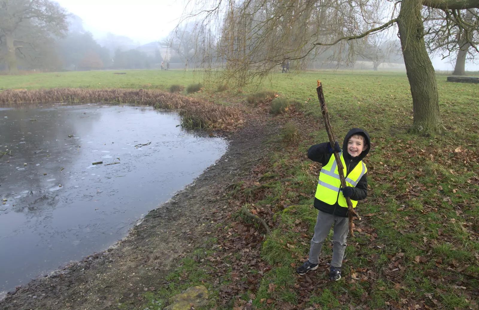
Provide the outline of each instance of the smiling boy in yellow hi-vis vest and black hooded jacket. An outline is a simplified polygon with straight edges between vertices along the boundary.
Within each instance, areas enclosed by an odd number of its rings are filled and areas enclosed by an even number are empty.
[[[334,223],[330,280],[341,279],[342,258],[346,250],[346,237],[349,231],[348,206],[345,197],[351,198],[353,207],[356,207],[358,200],[366,198],[367,169],[362,159],[369,152],[370,140],[369,134],[365,130],[353,128],[344,138],[342,149],[346,149],[346,152],[341,151],[339,143],[336,142],[334,151],[341,152],[340,158],[346,174],[347,186],[343,188],[341,188],[338,167],[332,154],[331,144],[329,142],[320,143],[308,149],[308,158],[322,164],[314,198],[314,207],[319,210],[319,214],[314,226],[314,236],[311,239],[309,258],[296,269],[298,274],[304,275],[309,270],[318,268],[322,243]]]

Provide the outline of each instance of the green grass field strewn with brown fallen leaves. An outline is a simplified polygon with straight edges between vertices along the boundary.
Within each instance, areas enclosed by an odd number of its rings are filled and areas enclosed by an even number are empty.
[[[126,72],[0,76],[0,85],[3,89],[166,90],[171,84],[186,86],[200,81],[200,76],[192,72]],[[331,259],[328,241],[323,246],[320,271],[309,273],[307,278],[295,274],[296,266],[308,254],[317,215],[312,197],[319,166],[305,154],[310,145],[327,140],[320,125],[317,79],[323,81],[335,134],[344,137],[350,128],[363,127],[372,138],[372,148],[365,159],[369,195],[357,208],[363,220],[356,221],[355,235],[348,237],[343,279],[321,286],[316,284],[325,279],[326,263]],[[240,267],[240,272],[233,272],[231,267],[226,275],[219,276],[218,284],[215,272],[205,272],[218,270],[208,258],[221,256],[233,266],[237,253],[225,248],[197,249],[182,262],[181,274],[174,272],[168,286],[147,296],[148,309],[162,309],[172,294],[202,283],[218,298],[213,302],[218,309],[239,307],[250,299],[258,309],[478,309],[479,85],[446,82],[446,76],[438,76],[437,80],[447,130],[443,135],[422,137],[407,131],[412,124],[412,100],[405,73],[274,74],[261,88],[277,91],[280,97],[294,102],[302,114],[271,117],[293,123],[300,139],[294,144],[281,144],[281,138],[277,138],[277,152],[258,168],[258,175],[239,182],[232,197],[241,201],[247,199],[248,193],[250,201],[244,205],[266,218],[270,216],[269,222],[276,224],[261,250],[261,259],[271,270],[258,275],[258,270],[247,264]],[[243,91],[246,92],[208,97],[231,103],[243,100],[256,89]],[[284,178],[293,181],[278,181]],[[258,183],[267,182],[269,187],[255,190]],[[218,230],[232,232],[232,236],[246,235],[240,222],[249,220],[238,217]],[[194,260],[198,253],[205,253],[204,262]],[[259,288],[246,285],[239,294],[230,296],[229,303],[222,303],[218,293],[221,287],[238,287],[253,275],[259,279]]]

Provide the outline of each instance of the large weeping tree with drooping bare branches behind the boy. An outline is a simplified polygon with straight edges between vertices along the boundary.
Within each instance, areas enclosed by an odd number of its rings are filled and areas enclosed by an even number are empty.
[[[445,27],[457,26],[458,34],[474,48],[478,43],[465,31],[470,23],[462,10],[479,8],[479,0],[217,0],[213,8],[207,3],[191,16],[220,25],[214,57],[223,60],[226,79],[246,82],[254,75],[264,77],[284,59],[300,61],[328,48],[344,55],[346,49],[354,50],[354,40],[397,25],[411,86],[413,132],[438,133],[444,128],[424,42],[424,14],[444,12]]]

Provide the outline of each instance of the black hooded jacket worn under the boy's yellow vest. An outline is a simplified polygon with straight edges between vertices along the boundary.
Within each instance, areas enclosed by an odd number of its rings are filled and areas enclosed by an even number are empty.
[[[361,154],[357,157],[351,157],[351,155],[349,155],[349,153],[347,152],[348,140],[354,134],[362,134],[365,137],[365,143],[367,143],[367,149],[361,152]],[[347,176],[349,172],[353,171],[354,167],[356,167],[359,161],[365,158],[365,156],[369,152],[369,149],[371,149],[371,138],[369,138],[369,134],[365,130],[360,128],[353,128],[348,132],[346,137],[344,137],[342,149],[344,150],[342,152],[342,157],[344,158],[344,162],[346,163],[346,176]],[[331,146],[329,142],[315,144],[308,149],[308,158],[312,161],[320,162],[323,166],[325,166],[328,164],[328,161],[330,160],[331,156],[333,156],[332,153],[330,153],[330,150],[331,150]],[[366,174],[367,173],[365,173],[363,177],[359,180],[356,187],[353,187],[353,195],[351,196],[351,199],[363,200],[366,198],[367,196]],[[341,207],[340,205],[338,205],[337,200],[334,205],[330,205],[315,197],[314,207],[320,211],[333,214],[339,217],[343,217],[343,218],[348,217],[348,208]]]

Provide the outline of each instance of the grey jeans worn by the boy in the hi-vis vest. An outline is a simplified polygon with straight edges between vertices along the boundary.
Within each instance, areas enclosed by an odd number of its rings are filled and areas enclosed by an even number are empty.
[[[334,241],[334,246],[331,265],[341,267],[344,251],[346,250],[346,237],[349,232],[348,218],[334,216],[322,211],[319,211],[318,219],[314,226],[314,236],[311,239],[311,247],[309,248],[309,263],[318,264],[323,241],[328,237],[333,223],[332,240]]]

